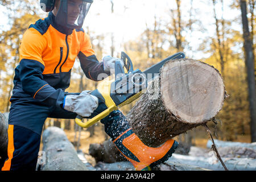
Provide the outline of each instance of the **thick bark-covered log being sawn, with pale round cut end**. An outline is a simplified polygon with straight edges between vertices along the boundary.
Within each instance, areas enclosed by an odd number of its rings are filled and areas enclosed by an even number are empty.
[[[226,97],[217,69],[201,61],[168,61],[127,114],[135,134],[156,147],[210,121]]]

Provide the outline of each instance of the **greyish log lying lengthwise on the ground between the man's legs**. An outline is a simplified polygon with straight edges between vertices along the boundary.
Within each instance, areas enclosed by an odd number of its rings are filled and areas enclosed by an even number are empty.
[[[43,151],[40,160],[41,171],[87,171],[85,164],[77,156],[75,147],[69,142],[67,135],[58,127],[48,127],[43,132]]]

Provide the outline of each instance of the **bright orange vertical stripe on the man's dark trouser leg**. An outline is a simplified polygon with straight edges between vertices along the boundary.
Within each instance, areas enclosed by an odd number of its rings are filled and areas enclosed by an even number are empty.
[[[13,127],[14,125],[8,127],[8,160],[3,165],[2,171],[10,171],[11,168],[11,159],[13,159],[14,152]]]

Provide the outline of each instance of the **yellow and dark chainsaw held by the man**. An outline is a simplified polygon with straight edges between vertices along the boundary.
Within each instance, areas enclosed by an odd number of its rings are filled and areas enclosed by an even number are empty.
[[[98,98],[97,109],[89,117],[88,121],[82,122],[83,118],[77,115],[75,122],[77,125],[87,128],[119,107],[130,104],[142,95],[143,90],[147,88],[148,81],[159,76],[160,68],[166,61],[184,58],[184,53],[178,52],[142,72],[139,69],[134,70],[130,57],[125,52],[121,52],[121,60],[126,68],[126,73],[120,61],[115,61],[114,78],[103,80],[98,84],[96,90],[90,92],[90,94]]]

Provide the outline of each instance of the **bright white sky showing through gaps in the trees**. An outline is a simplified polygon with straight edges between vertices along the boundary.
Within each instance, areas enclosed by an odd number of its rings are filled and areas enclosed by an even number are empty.
[[[224,19],[233,19],[234,16],[240,17],[240,11],[237,9],[231,9],[230,3],[232,1],[224,1]],[[189,10],[191,8],[191,0],[181,1],[181,18],[183,20],[189,19]],[[192,3],[193,19],[199,19],[202,23],[201,28],[205,28],[206,32],[201,32],[200,27],[196,24],[192,28],[196,28],[192,34],[183,35],[188,39],[189,44],[193,48],[197,48],[201,43],[202,37],[207,35],[213,35],[215,33],[213,9],[209,6],[209,2],[202,0],[193,1]],[[167,22],[170,20],[171,13],[170,9],[176,9],[175,0],[118,0],[114,1],[114,13],[111,11],[111,3],[109,0],[94,0],[88,15],[86,16],[84,28],[89,27],[89,31],[93,31],[94,34],[114,34],[114,42],[116,54],[122,51],[122,43],[129,40],[137,39],[137,37],[146,29],[146,23],[148,26],[153,26],[154,16]],[[42,18],[47,16],[40,10],[38,5],[39,13],[42,13]],[[9,21],[6,16],[6,10],[0,6],[0,15],[2,21],[0,27],[2,30],[9,28],[6,26]],[[222,10],[221,4],[216,5],[217,18],[221,18]],[[234,22],[232,28],[238,31],[241,30],[240,24]],[[188,32],[187,32],[188,33]],[[185,32],[183,32],[185,34]],[[92,40],[93,41],[93,40]],[[105,53],[109,54],[110,37],[106,38]],[[164,47],[163,47],[164,48]],[[193,50],[185,50],[186,54],[194,59],[201,59],[204,57],[201,52],[193,52]]]

